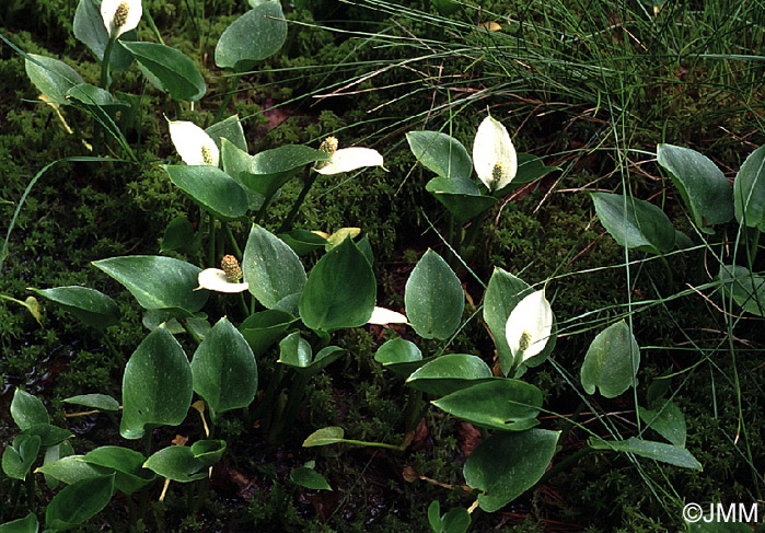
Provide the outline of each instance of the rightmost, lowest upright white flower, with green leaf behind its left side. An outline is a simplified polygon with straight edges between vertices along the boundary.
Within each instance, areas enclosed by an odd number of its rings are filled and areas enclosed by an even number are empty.
[[[515,362],[523,362],[540,354],[547,345],[552,331],[553,309],[543,290],[532,292],[518,302],[505,326],[505,336]]]

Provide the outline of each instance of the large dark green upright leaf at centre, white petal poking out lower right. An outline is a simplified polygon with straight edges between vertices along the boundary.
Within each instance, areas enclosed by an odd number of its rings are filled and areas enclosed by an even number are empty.
[[[376,291],[372,267],[346,239],[311,269],[300,297],[300,317],[308,327],[325,332],[362,326],[372,316]]]

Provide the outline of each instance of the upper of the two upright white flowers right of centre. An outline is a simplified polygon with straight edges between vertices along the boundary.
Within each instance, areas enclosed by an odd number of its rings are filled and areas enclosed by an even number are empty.
[[[518,157],[510,135],[491,117],[484,118],[475,134],[473,165],[489,190],[501,189],[518,172]]]

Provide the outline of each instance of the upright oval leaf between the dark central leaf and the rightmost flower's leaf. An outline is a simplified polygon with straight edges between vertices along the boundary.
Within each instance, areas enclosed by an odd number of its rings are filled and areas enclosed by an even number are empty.
[[[462,321],[465,296],[445,260],[428,250],[406,281],[406,316],[424,338],[449,338]]]

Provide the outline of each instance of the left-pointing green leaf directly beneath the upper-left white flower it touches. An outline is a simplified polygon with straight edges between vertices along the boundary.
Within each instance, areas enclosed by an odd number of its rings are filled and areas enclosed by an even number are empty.
[[[209,165],[162,165],[170,181],[221,220],[236,220],[250,208],[247,195],[225,172]]]

